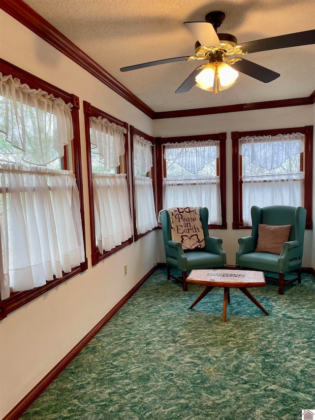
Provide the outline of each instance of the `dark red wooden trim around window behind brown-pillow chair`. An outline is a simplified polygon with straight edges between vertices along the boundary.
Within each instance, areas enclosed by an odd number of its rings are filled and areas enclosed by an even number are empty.
[[[277,134],[292,134],[300,132],[305,135],[305,179],[304,179],[304,207],[306,214],[306,229],[313,228],[312,222],[312,185],[313,185],[313,126],[293,127],[287,129],[270,129],[257,131],[232,132],[232,179],[233,179],[233,229],[252,229],[244,226],[242,209],[242,161],[239,155],[239,139],[245,136],[263,136]]]

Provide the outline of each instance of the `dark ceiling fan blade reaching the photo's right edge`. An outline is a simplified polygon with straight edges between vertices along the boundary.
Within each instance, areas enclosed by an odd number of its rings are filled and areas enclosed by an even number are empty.
[[[279,48],[298,47],[299,45],[310,44],[315,44],[315,29],[258,39],[257,41],[245,42],[241,45],[242,50],[250,54],[259,51],[277,50]]]

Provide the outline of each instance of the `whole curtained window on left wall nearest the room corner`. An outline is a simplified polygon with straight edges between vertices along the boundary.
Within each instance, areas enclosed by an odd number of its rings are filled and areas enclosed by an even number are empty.
[[[158,226],[154,201],[154,138],[130,126],[134,237]]]

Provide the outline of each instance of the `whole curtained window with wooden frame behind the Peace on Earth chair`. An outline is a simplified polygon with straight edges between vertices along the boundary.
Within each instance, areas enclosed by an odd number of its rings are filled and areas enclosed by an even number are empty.
[[[225,139],[226,133],[157,139],[159,209],[204,206],[209,227],[226,228]]]

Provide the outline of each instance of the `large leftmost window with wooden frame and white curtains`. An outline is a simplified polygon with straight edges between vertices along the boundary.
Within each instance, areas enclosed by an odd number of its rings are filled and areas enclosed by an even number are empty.
[[[2,60],[1,68],[0,314],[4,317],[85,270],[87,264],[79,137],[74,130],[78,97]]]

